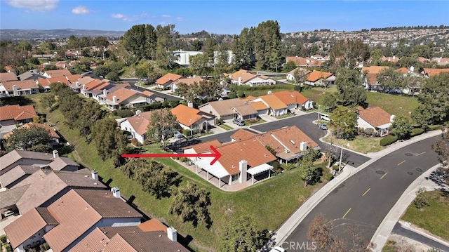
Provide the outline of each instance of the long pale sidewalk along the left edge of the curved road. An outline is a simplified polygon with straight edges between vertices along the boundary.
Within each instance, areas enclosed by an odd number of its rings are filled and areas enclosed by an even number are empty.
[[[274,233],[272,239],[274,240],[275,244],[281,244],[283,241],[285,241],[288,236],[295,230],[297,225],[301,223],[302,220],[311,212],[311,210],[318,205],[321,200],[323,200],[330,192],[332,192],[338,185],[344,182],[344,180],[347,180],[347,178],[350,178],[351,175],[354,175],[358,171],[361,171],[366,166],[369,166],[370,164],[373,164],[375,161],[380,159],[381,157],[384,157],[384,155],[394,152],[395,150],[401,149],[402,147],[405,147],[407,145],[410,145],[415,142],[419,142],[420,140],[424,140],[427,138],[434,137],[436,135],[441,135],[440,130],[436,131],[429,131],[427,133],[424,133],[422,135],[417,135],[414,138],[410,140],[405,140],[401,142],[396,142],[390,147],[385,148],[384,150],[380,152],[376,152],[375,154],[369,154],[372,159],[369,161],[366,161],[366,163],[362,164],[361,166],[358,166],[357,168],[354,168],[352,166],[344,166],[344,169],[340,175],[337,175],[333,180],[330,180],[329,183],[321,187],[320,190],[315,192],[307,201],[304,202],[300,206],[300,208],[297,208],[295,213],[288,218],[281,227],[279,227],[279,230],[276,230]],[[387,215],[388,216],[388,215]],[[396,222],[395,222],[396,223]],[[394,225],[393,225],[394,226]],[[393,228],[391,226],[391,230]],[[391,230],[389,232],[391,232]],[[382,233],[383,234],[383,233]],[[387,241],[387,240],[385,240]],[[384,241],[384,242],[385,242]],[[381,247],[382,249],[382,247]]]

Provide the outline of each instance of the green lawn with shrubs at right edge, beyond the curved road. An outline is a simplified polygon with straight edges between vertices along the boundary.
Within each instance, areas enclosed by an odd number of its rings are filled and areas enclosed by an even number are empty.
[[[408,206],[406,213],[402,216],[403,220],[424,228],[449,240],[449,193],[441,191],[424,192],[429,198],[430,206],[425,206],[424,211],[416,208],[412,203]]]

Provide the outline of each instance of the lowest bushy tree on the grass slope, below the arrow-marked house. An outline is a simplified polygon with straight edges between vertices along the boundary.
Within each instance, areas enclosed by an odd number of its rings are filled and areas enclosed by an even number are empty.
[[[191,181],[185,187],[176,187],[173,190],[175,199],[168,209],[170,214],[179,215],[183,222],[192,221],[194,227],[203,223],[206,227],[212,225],[208,206],[210,195],[203,188],[198,188]]]

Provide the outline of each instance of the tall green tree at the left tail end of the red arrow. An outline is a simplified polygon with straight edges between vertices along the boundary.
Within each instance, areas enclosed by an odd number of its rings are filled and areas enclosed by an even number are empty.
[[[101,159],[112,159],[114,164],[119,166],[127,143],[126,136],[117,128],[116,121],[111,118],[96,121],[92,128],[92,138]]]

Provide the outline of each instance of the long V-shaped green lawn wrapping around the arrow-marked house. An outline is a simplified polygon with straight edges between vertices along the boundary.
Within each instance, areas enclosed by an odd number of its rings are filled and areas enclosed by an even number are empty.
[[[98,170],[103,182],[112,180],[109,186],[120,187],[123,197],[134,196],[133,203],[150,217],[157,217],[168,225],[176,227],[184,237],[191,235],[193,241],[189,246],[196,251],[215,251],[220,242],[219,234],[223,225],[226,225],[230,219],[243,214],[253,215],[257,220],[255,225],[260,229],[276,230],[312,192],[324,184],[319,183],[304,188],[299,170],[293,169],[257,183],[246,190],[223,192],[172,159],[159,159],[158,161],[162,164],[173,168],[182,175],[181,186],[185,185],[188,180],[192,180],[196,185],[210,192],[212,201],[210,215],[213,225],[209,230],[202,225],[193,227],[192,223],[182,223],[176,215],[168,213],[173,197],[155,199],[147,192],[143,192],[138,183],[124,176],[119,169],[114,168],[111,161],[102,161],[93,143],[87,144],[76,131],[65,126],[59,110],[49,113],[48,120],[57,124],[62,135],[74,145],[75,152],[69,154],[69,157],[74,158],[87,168]],[[160,152],[157,145],[146,145],[144,148],[150,152]],[[327,172],[323,178],[326,178],[326,174]]]

